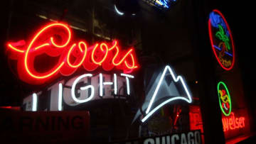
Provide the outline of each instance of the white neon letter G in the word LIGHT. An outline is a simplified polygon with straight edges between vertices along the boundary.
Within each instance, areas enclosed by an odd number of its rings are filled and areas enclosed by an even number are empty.
[[[85,86],[85,87],[80,87],[80,89],[81,90],[92,89],[90,96],[87,99],[84,99],[84,100],[80,100],[80,99],[76,98],[76,96],[75,96],[75,86],[76,86],[76,84],[78,84],[80,79],[85,78],[85,77],[92,77],[92,74],[82,74],[80,77],[75,79],[75,81],[73,82],[72,88],[71,88],[71,96],[72,96],[73,100],[77,103],[85,103],[87,101],[90,101],[93,98],[94,94],[95,94],[94,87],[92,85],[89,85],[89,86]]]

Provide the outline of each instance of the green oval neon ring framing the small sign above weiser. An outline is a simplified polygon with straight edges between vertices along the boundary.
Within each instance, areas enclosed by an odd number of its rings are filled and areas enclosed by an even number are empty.
[[[222,105],[222,102],[220,99],[220,97],[222,96],[222,92],[220,90],[220,84],[223,85],[223,87],[225,88],[225,92],[226,92],[226,97],[228,98],[228,104],[229,104],[229,111],[228,113],[225,112],[225,110],[223,109],[223,105]],[[221,111],[223,112],[223,114],[225,116],[230,116],[230,113],[231,113],[231,109],[232,109],[232,103],[231,103],[231,98],[230,98],[230,94],[229,94],[229,91],[228,91],[228,87],[226,86],[226,84],[224,82],[218,82],[218,86],[217,86],[217,91],[218,91],[218,99],[219,99],[219,103],[220,103],[220,109]]]

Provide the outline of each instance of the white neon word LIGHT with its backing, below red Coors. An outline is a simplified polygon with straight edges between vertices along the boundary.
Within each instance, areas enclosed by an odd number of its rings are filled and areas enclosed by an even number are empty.
[[[60,80],[47,89],[46,93],[50,94],[50,106],[47,109],[48,111],[63,111],[63,102],[68,106],[77,106],[99,99],[114,99],[117,94],[122,95],[119,99],[126,99],[126,96],[131,93],[129,84],[125,84],[129,82],[128,77],[134,78],[130,74],[119,74],[117,77],[117,74],[111,76],[110,74],[100,73],[95,75],[82,74],[69,79],[67,82]],[[102,82],[99,82],[100,79],[102,79]],[[109,82],[103,82],[105,79]],[[102,86],[100,86],[100,83],[102,83]],[[38,95],[40,94],[42,92],[33,93],[32,96],[23,100],[23,104],[26,104],[26,111],[46,110],[45,108],[38,108],[38,101],[40,101]],[[29,104],[32,106],[29,106]]]

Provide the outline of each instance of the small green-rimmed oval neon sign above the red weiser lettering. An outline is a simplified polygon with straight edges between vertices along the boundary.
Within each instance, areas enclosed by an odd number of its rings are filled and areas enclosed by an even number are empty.
[[[217,86],[218,99],[220,102],[220,109],[225,116],[229,116],[231,113],[231,99],[228,92],[228,87],[224,82],[219,82]]]

